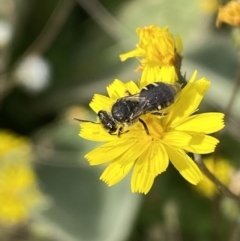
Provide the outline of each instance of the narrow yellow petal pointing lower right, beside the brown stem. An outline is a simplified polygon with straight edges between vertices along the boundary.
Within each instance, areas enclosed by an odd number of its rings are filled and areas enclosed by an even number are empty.
[[[183,150],[167,145],[165,148],[172,164],[188,182],[196,185],[202,180],[198,166]]]

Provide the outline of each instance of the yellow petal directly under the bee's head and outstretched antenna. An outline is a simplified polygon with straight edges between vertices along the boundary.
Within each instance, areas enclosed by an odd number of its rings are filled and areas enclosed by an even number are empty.
[[[80,134],[82,138],[90,141],[112,141],[118,138],[116,135],[110,135],[100,123],[81,123]]]

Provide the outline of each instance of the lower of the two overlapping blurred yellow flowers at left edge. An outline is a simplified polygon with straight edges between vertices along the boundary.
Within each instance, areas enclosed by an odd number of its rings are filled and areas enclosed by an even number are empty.
[[[0,222],[24,222],[42,196],[35,174],[25,162],[7,163],[0,168]]]

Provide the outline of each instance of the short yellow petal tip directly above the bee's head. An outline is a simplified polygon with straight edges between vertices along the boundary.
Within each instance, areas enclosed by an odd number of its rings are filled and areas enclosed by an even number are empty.
[[[89,106],[98,113],[100,110],[110,111],[114,101],[104,95],[95,94]]]

